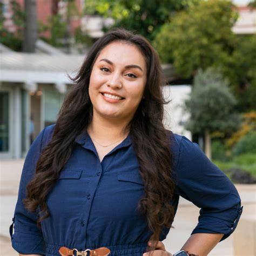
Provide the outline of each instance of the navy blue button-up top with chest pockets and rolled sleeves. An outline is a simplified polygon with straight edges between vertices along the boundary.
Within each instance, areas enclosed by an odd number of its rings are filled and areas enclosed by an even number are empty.
[[[138,160],[128,136],[109,152],[102,163],[88,134],[76,139],[72,154],[47,198],[50,217],[37,228],[37,214],[25,210],[26,184],[31,180],[42,148],[49,142],[54,125],[46,127],[33,142],[25,159],[14,214],[12,246],[22,254],[59,255],[60,246],[110,248],[111,255],[141,256],[151,232],[138,213],[143,181]],[[197,144],[174,134],[171,138],[176,192],[201,208],[192,233],[223,233],[228,237],[238,223],[242,208],[231,181],[211,163]],[[160,240],[169,228],[163,227]],[[185,241],[184,241],[185,242]]]

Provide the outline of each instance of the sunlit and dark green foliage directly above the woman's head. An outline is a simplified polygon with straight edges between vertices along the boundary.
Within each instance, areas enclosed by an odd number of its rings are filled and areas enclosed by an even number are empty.
[[[86,14],[112,17],[114,27],[136,31],[153,39],[161,25],[179,10],[188,8],[198,0],[86,0]]]

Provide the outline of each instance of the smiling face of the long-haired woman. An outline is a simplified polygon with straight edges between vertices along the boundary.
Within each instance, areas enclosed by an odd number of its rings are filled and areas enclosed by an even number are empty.
[[[146,73],[145,59],[136,46],[124,42],[105,46],[90,77],[93,116],[129,122],[142,100]]]

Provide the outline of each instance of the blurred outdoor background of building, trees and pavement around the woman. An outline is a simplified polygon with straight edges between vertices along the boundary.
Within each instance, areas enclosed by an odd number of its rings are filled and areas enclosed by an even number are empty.
[[[166,128],[197,142],[235,184],[244,184],[237,187],[249,222],[237,232],[238,246],[232,238],[211,255],[256,255],[255,0],[0,1],[0,198],[2,209],[10,206],[1,210],[0,247],[9,241],[24,157],[56,122],[72,86],[68,75],[75,76],[99,37],[120,27],[142,34],[159,53],[163,93],[171,100]],[[196,211],[185,201],[181,206]],[[254,236],[242,241],[245,229]]]

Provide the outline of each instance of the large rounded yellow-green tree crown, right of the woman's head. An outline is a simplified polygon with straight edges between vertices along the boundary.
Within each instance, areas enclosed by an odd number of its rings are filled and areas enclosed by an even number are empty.
[[[232,59],[236,18],[231,1],[199,1],[165,23],[153,44],[161,60],[173,63],[184,78],[210,66],[225,71]]]

